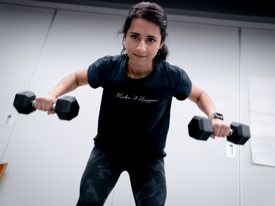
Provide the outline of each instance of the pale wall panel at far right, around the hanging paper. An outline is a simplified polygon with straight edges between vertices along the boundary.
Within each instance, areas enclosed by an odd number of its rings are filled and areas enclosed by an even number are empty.
[[[248,77],[275,78],[275,30],[242,29],[241,121],[245,124],[249,124]],[[253,164],[250,145],[242,150],[241,165],[241,206],[274,206],[275,167]]]

